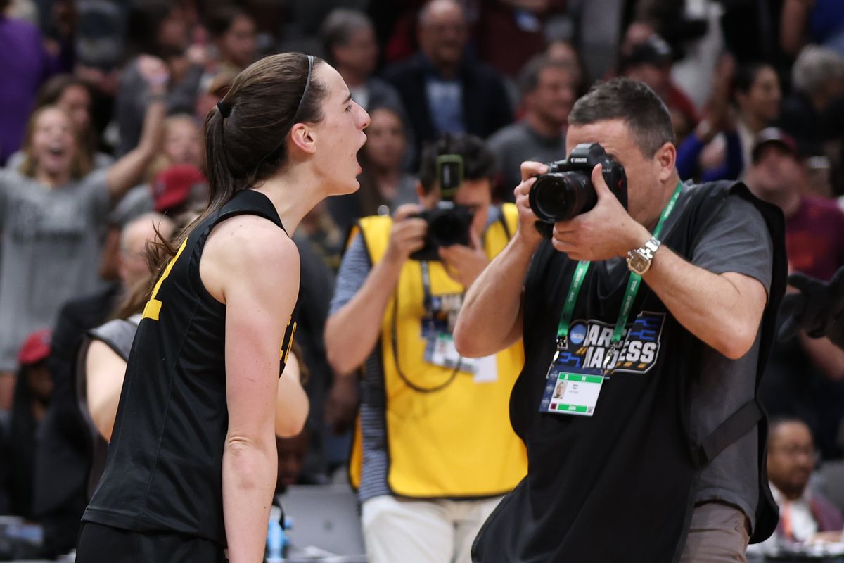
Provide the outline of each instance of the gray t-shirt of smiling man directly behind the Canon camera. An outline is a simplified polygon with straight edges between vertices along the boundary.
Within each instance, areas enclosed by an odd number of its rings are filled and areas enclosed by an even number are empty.
[[[501,183],[507,201],[513,200],[513,188],[522,181],[522,162],[552,162],[565,158],[565,135],[545,137],[533,131],[525,122],[513,123],[499,129],[486,146],[495,154]]]

